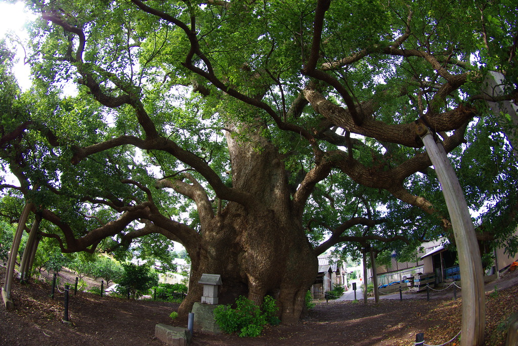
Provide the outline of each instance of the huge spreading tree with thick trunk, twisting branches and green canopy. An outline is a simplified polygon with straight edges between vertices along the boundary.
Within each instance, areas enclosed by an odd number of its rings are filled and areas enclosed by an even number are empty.
[[[516,100],[511,1],[28,6],[34,86],[2,105],[2,162],[20,181],[4,187],[63,252],[181,243],[180,313],[209,273],[221,303],[271,294],[293,323],[327,249],[451,236],[418,119],[464,174],[485,172],[470,207],[501,202],[487,215],[502,227],[478,236],[513,240],[515,119],[488,111]],[[505,76],[498,95],[488,71]]]

